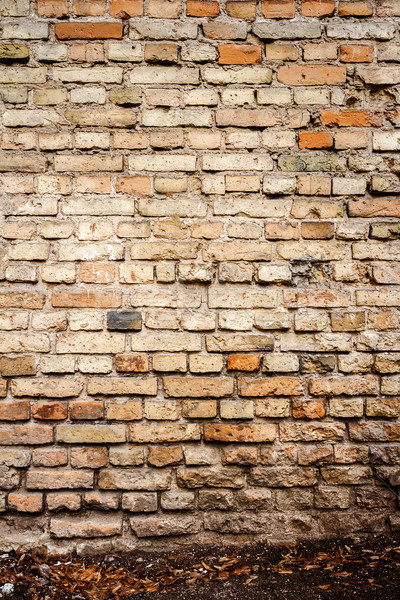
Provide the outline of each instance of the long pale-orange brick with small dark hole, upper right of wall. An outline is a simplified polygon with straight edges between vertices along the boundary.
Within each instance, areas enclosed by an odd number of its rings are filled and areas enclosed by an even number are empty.
[[[281,67],[277,78],[286,85],[338,85],[346,83],[346,67],[332,65]]]

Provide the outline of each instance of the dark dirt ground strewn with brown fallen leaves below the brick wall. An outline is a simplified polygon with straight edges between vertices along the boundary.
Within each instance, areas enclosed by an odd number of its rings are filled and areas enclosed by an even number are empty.
[[[398,600],[400,535],[82,558],[0,555],[6,600]]]

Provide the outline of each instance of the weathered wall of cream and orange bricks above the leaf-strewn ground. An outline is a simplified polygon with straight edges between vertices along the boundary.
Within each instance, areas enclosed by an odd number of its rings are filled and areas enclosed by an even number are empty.
[[[399,529],[399,1],[0,15],[1,545]]]

